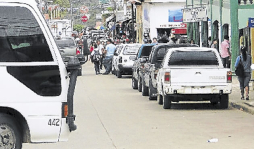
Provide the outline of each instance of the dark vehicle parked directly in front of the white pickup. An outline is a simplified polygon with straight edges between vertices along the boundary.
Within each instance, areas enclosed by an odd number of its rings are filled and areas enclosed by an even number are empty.
[[[157,98],[157,73],[161,67],[162,60],[168,49],[177,47],[198,47],[192,44],[158,44],[153,47],[148,61],[144,64],[144,73],[141,76],[142,95],[148,96],[153,100]]]

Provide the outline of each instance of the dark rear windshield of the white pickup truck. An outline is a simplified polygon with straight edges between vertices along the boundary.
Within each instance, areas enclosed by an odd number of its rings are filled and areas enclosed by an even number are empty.
[[[168,65],[219,65],[213,51],[175,51]]]

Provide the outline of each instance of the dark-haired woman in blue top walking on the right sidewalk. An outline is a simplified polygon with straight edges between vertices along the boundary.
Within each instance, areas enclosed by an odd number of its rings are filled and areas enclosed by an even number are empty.
[[[235,68],[238,67],[239,64],[243,65],[244,68],[244,76],[238,76],[238,81],[240,83],[241,89],[241,100],[244,100],[244,90],[246,95],[246,100],[249,100],[249,82],[251,78],[251,56],[247,54],[246,47],[241,48],[241,55],[237,57],[235,62]]]

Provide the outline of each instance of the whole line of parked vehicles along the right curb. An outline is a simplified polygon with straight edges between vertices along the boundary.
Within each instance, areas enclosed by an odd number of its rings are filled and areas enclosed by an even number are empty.
[[[157,100],[164,109],[172,102],[210,101],[228,108],[232,73],[216,49],[193,44],[117,45],[112,73],[132,75],[132,88]]]

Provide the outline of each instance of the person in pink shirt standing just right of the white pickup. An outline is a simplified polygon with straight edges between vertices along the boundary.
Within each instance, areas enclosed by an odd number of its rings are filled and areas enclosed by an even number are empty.
[[[220,50],[220,56],[221,56],[224,68],[230,68],[229,60],[231,58],[231,53],[229,48],[230,48],[229,36],[225,35],[224,41],[221,43],[221,50]]]

